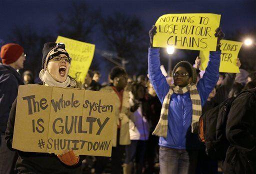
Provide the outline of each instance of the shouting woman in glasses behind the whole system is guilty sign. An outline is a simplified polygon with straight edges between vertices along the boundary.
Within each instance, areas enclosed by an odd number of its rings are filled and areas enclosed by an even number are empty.
[[[71,58],[64,44],[45,43],[42,54],[42,70],[39,73],[42,85],[81,88],[68,76]],[[5,131],[6,145],[12,151],[17,151],[12,149],[16,104],[17,100],[12,104]],[[18,174],[80,174],[82,160],[83,156],[76,157],[73,151],[64,151],[61,155],[18,151],[16,169]]]

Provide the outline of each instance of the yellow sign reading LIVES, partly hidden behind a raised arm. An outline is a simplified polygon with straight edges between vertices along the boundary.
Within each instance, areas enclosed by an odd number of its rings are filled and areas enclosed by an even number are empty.
[[[242,42],[231,40],[220,41],[220,66],[219,72],[225,73],[239,73],[239,68],[236,66],[236,59]],[[199,57],[201,58],[201,70],[205,70],[209,61],[209,51],[200,51]]]

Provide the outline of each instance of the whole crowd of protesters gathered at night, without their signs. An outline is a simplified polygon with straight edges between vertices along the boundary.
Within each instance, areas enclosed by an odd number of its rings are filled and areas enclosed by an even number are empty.
[[[130,77],[114,67],[108,82],[100,84],[100,73],[88,70],[84,83],[68,76],[71,58],[63,43],[48,42],[42,50],[38,85],[80,88],[114,94],[118,101],[111,157],[31,153],[12,149],[18,85],[34,83],[32,71],[20,76],[24,49],[14,43],[1,47],[0,58],[0,174],[224,174],[256,173],[256,73],[219,73],[219,42],[211,51],[206,70],[200,58],[175,65],[170,77],[160,70],[159,48],[152,46],[156,27],[149,31],[148,75]],[[236,65],[241,66],[237,58]],[[250,92],[246,92],[251,90]],[[245,91],[241,93],[242,91]],[[199,117],[234,98],[226,122],[230,143],[221,163],[205,153],[198,138]]]

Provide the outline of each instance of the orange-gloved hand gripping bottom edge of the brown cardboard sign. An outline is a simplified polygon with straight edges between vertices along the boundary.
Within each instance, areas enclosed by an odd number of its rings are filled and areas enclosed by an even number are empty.
[[[79,156],[76,157],[71,150],[64,150],[61,155],[57,155],[58,159],[67,166],[74,166],[79,162]]]

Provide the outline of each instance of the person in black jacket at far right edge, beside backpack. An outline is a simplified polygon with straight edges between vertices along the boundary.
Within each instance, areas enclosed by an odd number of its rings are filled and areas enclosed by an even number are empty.
[[[243,91],[232,102],[226,122],[230,142],[224,174],[256,174],[256,88]]]

